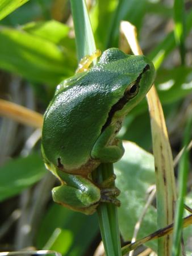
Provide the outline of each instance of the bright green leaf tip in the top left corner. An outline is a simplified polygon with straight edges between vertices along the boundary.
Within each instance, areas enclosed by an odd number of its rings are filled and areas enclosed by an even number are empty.
[[[12,13],[19,6],[24,5],[24,3],[29,0],[1,0],[0,1],[0,20],[3,19],[8,14]]]

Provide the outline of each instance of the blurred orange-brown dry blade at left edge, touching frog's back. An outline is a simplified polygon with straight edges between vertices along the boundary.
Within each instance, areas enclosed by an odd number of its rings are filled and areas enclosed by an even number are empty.
[[[41,128],[43,115],[10,101],[0,100],[0,115],[9,117],[23,125]]]

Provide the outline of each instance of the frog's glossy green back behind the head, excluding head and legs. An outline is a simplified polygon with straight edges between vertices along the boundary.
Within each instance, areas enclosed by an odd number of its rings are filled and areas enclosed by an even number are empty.
[[[98,160],[90,161],[91,150],[111,105],[116,102],[107,92],[106,83],[103,84],[106,79],[102,79],[101,72],[88,72],[77,84],[68,86],[53,98],[54,104],[44,117],[42,144],[46,145],[45,155],[55,166],[76,173],[85,164],[87,172],[99,164]],[[108,80],[114,79],[110,76]]]

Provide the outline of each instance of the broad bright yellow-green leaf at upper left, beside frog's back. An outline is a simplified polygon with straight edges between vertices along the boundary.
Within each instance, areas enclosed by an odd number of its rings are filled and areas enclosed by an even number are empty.
[[[74,57],[66,48],[22,30],[0,29],[0,68],[6,71],[57,85],[73,75],[75,65]]]

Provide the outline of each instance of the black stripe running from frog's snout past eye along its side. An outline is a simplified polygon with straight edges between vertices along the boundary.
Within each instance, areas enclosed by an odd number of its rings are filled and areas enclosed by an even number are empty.
[[[150,67],[147,64],[145,66],[145,68],[143,69],[143,72],[140,73],[140,75],[137,77],[137,79],[135,81],[135,85],[139,85],[139,82],[141,80],[141,77],[142,77],[143,73],[148,71],[148,69],[150,69]],[[106,121],[105,125],[103,125],[103,127],[102,127],[101,133],[106,129],[107,126],[110,125],[112,117],[114,116],[115,112],[118,111],[118,110],[123,109],[123,106],[126,105],[129,100],[130,99],[127,98],[126,95],[124,95],[122,98],[120,98],[120,100],[118,102],[115,103],[115,105],[112,106],[112,108],[110,109],[110,112],[108,113],[107,121]]]

